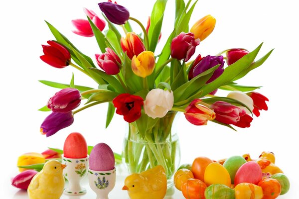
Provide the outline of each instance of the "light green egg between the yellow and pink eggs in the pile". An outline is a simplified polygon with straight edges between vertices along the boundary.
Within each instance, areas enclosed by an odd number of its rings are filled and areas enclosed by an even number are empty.
[[[231,177],[232,184],[234,184],[235,175],[238,169],[245,163],[246,160],[241,156],[232,156],[223,163],[223,167],[228,171]]]

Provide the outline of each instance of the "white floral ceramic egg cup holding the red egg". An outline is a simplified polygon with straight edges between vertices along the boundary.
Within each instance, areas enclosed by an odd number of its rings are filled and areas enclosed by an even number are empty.
[[[80,181],[87,176],[88,158],[66,158],[62,155],[62,164],[66,164],[63,176],[68,180],[68,187],[63,193],[70,196],[86,194],[86,189],[82,188]]]

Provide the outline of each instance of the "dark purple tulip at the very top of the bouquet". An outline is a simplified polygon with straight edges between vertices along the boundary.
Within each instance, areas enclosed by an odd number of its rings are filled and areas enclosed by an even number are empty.
[[[129,10],[112,1],[98,3],[100,9],[112,23],[122,25],[125,24],[130,17]]]

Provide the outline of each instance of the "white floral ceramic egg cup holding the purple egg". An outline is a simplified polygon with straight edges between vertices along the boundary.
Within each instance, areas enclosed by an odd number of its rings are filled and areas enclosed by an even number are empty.
[[[97,199],[109,199],[108,194],[113,190],[116,181],[116,168],[110,171],[88,170],[90,188],[97,194]]]

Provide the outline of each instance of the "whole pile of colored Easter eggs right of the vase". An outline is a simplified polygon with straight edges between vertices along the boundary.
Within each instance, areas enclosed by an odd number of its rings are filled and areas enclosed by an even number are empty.
[[[249,154],[220,161],[198,157],[175,173],[174,185],[186,199],[276,199],[290,189],[271,152],[258,160]]]

